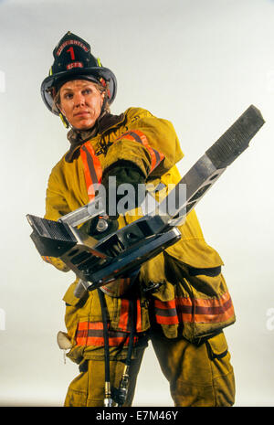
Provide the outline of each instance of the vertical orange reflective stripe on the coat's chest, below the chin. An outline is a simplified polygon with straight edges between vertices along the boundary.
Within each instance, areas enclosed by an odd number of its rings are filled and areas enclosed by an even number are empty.
[[[80,155],[84,165],[88,196],[91,200],[93,197],[95,197],[93,185],[101,182],[102,170],[100,160],[94,153],[90,142],[87,142],[81,146]]]

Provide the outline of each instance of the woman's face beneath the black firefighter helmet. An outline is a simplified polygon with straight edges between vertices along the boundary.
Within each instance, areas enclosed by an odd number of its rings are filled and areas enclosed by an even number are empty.
[[[60,89],[60,110],[70,125],[89,130],[100,116],[104,92],[89,80],[72,80]]]

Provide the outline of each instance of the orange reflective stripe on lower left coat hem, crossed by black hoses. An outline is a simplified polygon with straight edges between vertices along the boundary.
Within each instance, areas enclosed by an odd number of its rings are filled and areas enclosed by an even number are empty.
[[[138,336],[134,337],[134,344],[138,341]],[[109,345],[129,345],[130,334],[128,332],[109,330]],[[104,345],[102,322],[80,322],[76,333],[77,345]]]

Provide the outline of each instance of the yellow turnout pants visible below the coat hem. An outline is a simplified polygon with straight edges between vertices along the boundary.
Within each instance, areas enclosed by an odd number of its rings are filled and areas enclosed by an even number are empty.
[[[232,406],[235,382],[223,332],[194,345],[183,338],[168,339],[160,332],[149,337],[176,407]],[[132,360],[130,386],[124,406],[132,406],[137,375],[145,348]],[[111,360],[111,385],[119,388],[124,363]],[[148,386],[150,382],[147,383]],[[88,370],[68,388],[65,406],[99,407],[104,400],[104,361],[88,360]]]

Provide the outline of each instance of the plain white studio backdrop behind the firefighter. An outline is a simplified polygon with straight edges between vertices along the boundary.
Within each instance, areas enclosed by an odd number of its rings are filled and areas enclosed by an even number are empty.
[[[237,313],[226,335],[236,406],[274,405],[274,2],[0,0],[0,405],[61,406],[78,367],[56,343],[72,272],[39,259],[26,214],[44,215],[47,177],[68,149],[39,90],[68,30],[118,79],[111,109],[171,120],[184,174],[252,103],[266,124],[196,207]],[[151,347],[134,406],[172,406]]]

